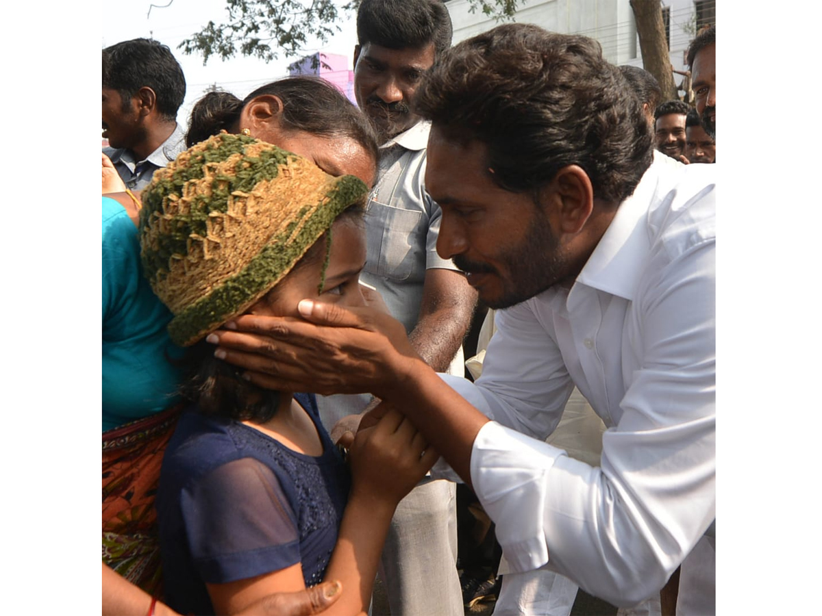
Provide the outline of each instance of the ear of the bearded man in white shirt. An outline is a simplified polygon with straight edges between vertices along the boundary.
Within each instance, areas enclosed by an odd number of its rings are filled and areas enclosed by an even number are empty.
[[[582,231],[593,212],[593,186],[588,173],[578,165],[568,165],[556,172],[552,182],[543,189],[550,201],[550,216],[555,228],[569,235]]]

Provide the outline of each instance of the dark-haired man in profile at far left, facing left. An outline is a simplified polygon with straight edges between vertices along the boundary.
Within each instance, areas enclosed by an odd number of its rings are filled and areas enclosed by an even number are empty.
[[[103,50],[103,136],[111,146],[103,154],[132,191],[186,149],[177,124],[185,95],[182,68],[165,45],[133,39]]]

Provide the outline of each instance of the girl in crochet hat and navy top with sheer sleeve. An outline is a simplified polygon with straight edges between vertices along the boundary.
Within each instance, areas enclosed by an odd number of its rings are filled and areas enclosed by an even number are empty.
[[[143,270],[174,315],[171,338],[196,356],[157,494],[165,599],[178,612],[233,614],[325,577],[343,585],[335,613],[367,610],[396,504],[435,460],[389,412],[358,433],[349,481],[312,395],[256,388],[201,343],[238,315],[297,315],[303,297],[363,305],[366,192],[225,133],[143,192]]]

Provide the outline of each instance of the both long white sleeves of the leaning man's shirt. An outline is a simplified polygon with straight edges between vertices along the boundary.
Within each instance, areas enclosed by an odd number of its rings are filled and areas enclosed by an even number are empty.
[[[617,425],[603,435],[600,467],[541,440],[556,425],[564,377],[556,345],[538,333],[533,317],[530,333],[523,321],[507,338],[492,339],[476,385],[455,384],[474,406],[516,430],[488,423],[471,456],[474,491],[514,572],[548,563],[585,591],[630,605],[663,586],[713,521],[713,246],[705,241],[661,258],[664,265],[642,278],[622,349],[635,356],[635,369],[625,375]],[[508,325],[524,319],[525,308],[516,308],[506,310]],[[544,363],[536,365],[540,345]],[[540,403],[547,419],[539,417]]]

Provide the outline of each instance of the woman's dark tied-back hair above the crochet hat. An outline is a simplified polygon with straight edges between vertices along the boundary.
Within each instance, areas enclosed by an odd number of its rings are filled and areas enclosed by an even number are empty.
[[[192,108],[186,145],[199,143],[219,131],[237,131],[242,109],[257,96],[273,94],[283,101],[279,126],[285,131],[305,131],[312,135],[350,137],[363,146],[375,161],[379,144],[368,118],[349,99],[319,77],[285,77],[263,85],[244,100],[229,92],[205,94]]]

